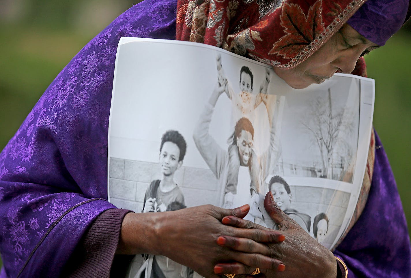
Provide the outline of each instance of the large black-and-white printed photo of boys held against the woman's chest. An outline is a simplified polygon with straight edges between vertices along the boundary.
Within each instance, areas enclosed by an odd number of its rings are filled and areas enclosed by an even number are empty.
[[[287,215],[331,249],[364,173],[358,157],[366,153],[358,150],[367,130],[360,134],[360,119],[370,117],[372,105],[362,108],[361,82],[342,75],[296,91],[268,66],[221,49],[122,38],[109,201],[143,213],[247,203],[245,219],[276,229],[262,203],[271,191]],[[137,255],[129,277],[152,275],[199,277],[166,257]]]

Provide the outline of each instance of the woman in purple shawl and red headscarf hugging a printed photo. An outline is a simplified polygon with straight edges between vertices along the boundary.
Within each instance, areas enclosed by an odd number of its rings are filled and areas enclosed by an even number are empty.
[[[406,0],[277,2],[145,0],[92,39],[0,153],[0,276],[108,277],[119,254],[150,253],[208,277],[256,267],[268,277],[410,277],[404,212],[377,136],[365,175],[372,183],[363,186],[356,223],[333,253],[293,225],[270,195],[266,209],[280,231],[247,229],[235,216],[248,206],[136,214],[107,201],[108,118],[121,36],[220,46],[272,64],[302,88],[336,71],[365,73],[358,58],[384,45],[409,16]]]

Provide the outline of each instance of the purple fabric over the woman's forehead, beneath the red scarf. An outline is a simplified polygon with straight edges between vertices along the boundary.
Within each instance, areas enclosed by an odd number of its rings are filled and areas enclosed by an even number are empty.
[[[405,21],[409,0],[368,0],[347,23],[373,43],[383,46]]]

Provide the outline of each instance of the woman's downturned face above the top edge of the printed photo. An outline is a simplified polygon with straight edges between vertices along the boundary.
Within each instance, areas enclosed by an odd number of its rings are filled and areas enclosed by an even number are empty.
[[[303,89],[324,82],[337,71],[351,73],[358,58],[378,47],[344,24],[304,62],[291,69],[274,68],[274,72],[294,89]]]

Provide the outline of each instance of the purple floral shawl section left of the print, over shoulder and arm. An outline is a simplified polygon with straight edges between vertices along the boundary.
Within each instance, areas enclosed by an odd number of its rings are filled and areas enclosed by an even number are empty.
[[[121,36],[174,39],[173,0],[146,0],[90,41],[0,153],[2,276],[56,277],[107,199],[107,139]],[[143,55],[143,54],[142,54]]]

